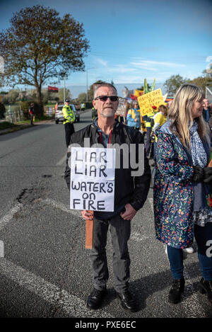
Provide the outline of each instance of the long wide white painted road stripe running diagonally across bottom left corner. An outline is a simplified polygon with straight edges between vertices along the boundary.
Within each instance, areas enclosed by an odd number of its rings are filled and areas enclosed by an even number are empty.
[[[20,266],[11,261],[7,261],[6,258],[0,259],[0,273],[21,287],[25,287],[26,290],[33,292],[33,294],[36,294],[49,304],[52,304],[55,309],[61,310],[62,314],[66,314],[69,317],[114,318],[102,309],[90,311],[86,308],[86,303],[82,299],[52,285],[42,277],[30,273],[30,271],[24,268],[20,268]]]

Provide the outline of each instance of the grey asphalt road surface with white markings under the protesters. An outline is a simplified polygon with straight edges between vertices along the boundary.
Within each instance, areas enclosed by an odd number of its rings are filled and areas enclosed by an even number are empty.
[[[82,113],[76,130],[90,119],[90,111]],[[172,277],[165,248],[155,239],[152,188],[131,222],[130,290],[139,311],[123,311],[115,298],[110,234],[107,295],[101,309],[86,309],[93,285],[85,222],[78,211],[69,210],[65,157],[61,124],[49,122],[0,137],[0,317],[71,317],[81,321],[212,317],[211,304],[197,290],[201,273],[196,252],[184,257],[182,301],[176,305],[167,302]]]

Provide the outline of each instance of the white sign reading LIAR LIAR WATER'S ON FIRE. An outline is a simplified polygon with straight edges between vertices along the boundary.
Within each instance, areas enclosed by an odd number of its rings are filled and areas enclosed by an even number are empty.
[[[70,208],[114,211],[115,149],[71,147]]]

